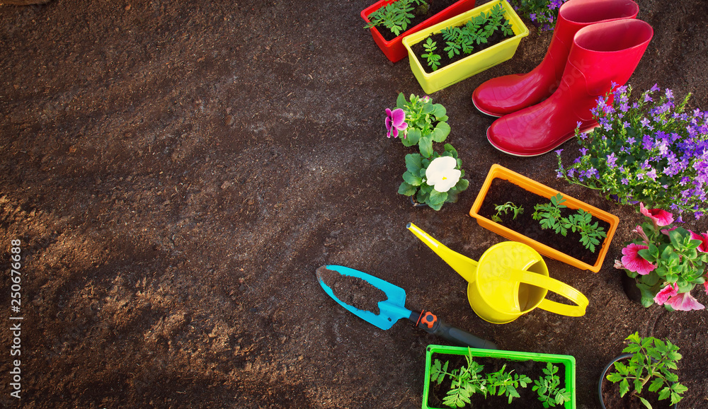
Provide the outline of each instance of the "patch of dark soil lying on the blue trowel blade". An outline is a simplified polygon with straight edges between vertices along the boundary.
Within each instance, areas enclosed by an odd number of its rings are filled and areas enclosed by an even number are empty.
[[[370,311],[378,315],[379,301],[385,301],[388,298],[382,290],[359,277],[342,275],[325,266],[319,267],[316,274],[320,282],[332,289],[332,293],[339,301],[356,309]]]

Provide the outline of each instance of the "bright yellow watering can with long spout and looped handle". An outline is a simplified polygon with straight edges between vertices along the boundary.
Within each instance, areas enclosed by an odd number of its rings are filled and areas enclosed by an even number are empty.
[[[585,315],[588,298],[549,277],[541,255],[526,244],[503,241],[488,248],[477,262],[443,246],[413,223],[406,227],[467,280],[469,306],[484,321],[510,323],[536,307],[564,316]],[[549,291],[576,305],[545,299]]]

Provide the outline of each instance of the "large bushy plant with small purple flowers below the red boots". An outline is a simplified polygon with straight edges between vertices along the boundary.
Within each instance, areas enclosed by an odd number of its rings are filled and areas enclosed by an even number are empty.
[[[678,221],[685,213],[699,219],[708,210],[708,113],[686,112],[690,93],[676,103],[656,85],[639,98],[631,86],[612,85],[592,110],[599,126],[576,129],[580,156],[564,166],[556,151],[558,177],[623,205],[644,202],[678,213]]]

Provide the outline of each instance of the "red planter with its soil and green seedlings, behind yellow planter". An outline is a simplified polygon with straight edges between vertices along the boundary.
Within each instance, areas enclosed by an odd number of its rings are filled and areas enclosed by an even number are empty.
[[[361,11],[374,42],[391,62],[406,57],[406,35],[474,8],[475,0],[379,0]]]

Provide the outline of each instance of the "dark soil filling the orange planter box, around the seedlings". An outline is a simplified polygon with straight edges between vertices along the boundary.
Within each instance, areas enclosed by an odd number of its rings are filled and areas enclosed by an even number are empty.
[[[595,246],[595,252],[593,253],[588,248],[585,248],[581,243],[581,235],[578,232],[573,232],[568,230],[566,236],[561,234],[556,234],[552,229],[542,229],[539,221],[533,219],[534,207],[536,205],[545,205],[549,203],[546,197],[536,195],[535,193],[528,192],[518,185],[515,185],[508,180],[496,178],[493,179],[491,185],[489,185],[489,190],[484,197],[484,202],[482,202],[481,207],[479,207],[479,215],[486,217],[491,220],[491,217],[495,215],[496,206],[503,205],[506,202],[513,202],[514,205],[524,209],[523,213],[519,214],[515,219],[512,214],[501,215],[502,226],[507,227],[519,234],[523,234],[528,238],[532,238],[539,243],[543,243],[546,246],[555,248],[570,255],[573,258],[581,260],[583,263],[589,265],[594,265],[598,260],[598,253],[603,247],[602,242],[599,246]],[[575,209],[569,209],[568,207],[561,209],[561,217],[569,217],[571,214],[575,213]],[[598,223],[598,226],[605,231],[610,230],[610,224],[607,221],[597,219],[593,217],[592,224]]]

